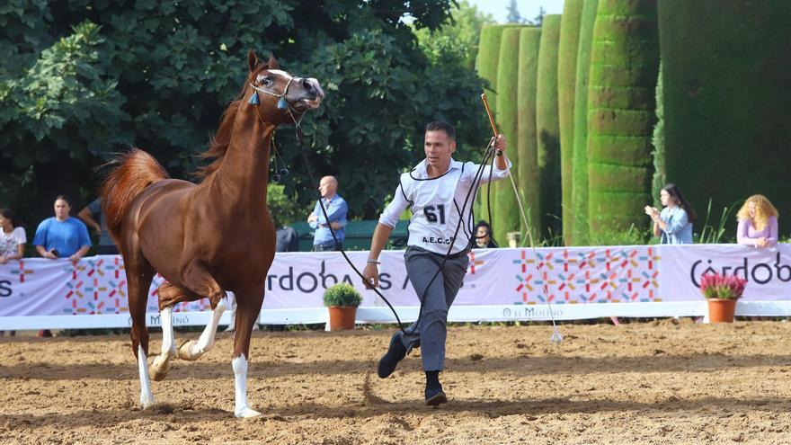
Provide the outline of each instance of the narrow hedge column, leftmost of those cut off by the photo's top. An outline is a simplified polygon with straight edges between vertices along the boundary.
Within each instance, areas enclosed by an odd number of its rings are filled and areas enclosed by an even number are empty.
[[[557,114],[560,122],[560,179],[563,193],[563,239],[573,243],[574,88],[584,0],[565,0],[557,55]]]

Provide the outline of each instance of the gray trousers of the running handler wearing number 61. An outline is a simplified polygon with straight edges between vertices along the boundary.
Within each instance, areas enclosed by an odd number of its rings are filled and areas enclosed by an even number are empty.
[[[423,370],[442,370],[445,365],[445,339],[448,336],[448,309],[453,303],[458,289],[467,274],[469,257],[461,254],[449,258],[437,278],[426,287],[434,273],[440,269],[444,256],[434,254],[419,247],[409,247],[404,254],[406,273],[412,282],[418,298],[422,302],[420,325],[413,323],[406,333],[396,333],[409,352],[414,347],[421,348]],[[425,297],[423,297],[425,293]],[[423,301],[423,298],[425,301]]]

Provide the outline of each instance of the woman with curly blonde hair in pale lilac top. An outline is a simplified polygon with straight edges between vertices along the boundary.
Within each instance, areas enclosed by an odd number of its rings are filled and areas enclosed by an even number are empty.
[[[755,248],[778,244],[778,209],[763,195],[752,195],[736,215],[739,227],[736,240],[740,245]]]

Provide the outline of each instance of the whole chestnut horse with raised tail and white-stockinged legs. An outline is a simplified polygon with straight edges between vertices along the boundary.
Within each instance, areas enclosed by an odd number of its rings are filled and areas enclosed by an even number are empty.
[[[211,349],[229,290],[238,305],[231,360],[234,414],[260,414],[247,405],[247,360],[275,251],[275,227],[266,207],[271,134],[317,108],[324,92],[316,79],[278,69],[274,58],[264,63],[250,51],[247,65],[242,93],[228,105],[203,154],[216,158],[202,170],[203,182],[169,179],[154,157],[132,149],[113,162],[117,166],[102,184],[102,210],[126,268],[143,408],[154,405],[149,378],[163,379],[176,356],[197,360]],[[158,289],[162,352],[148,369],[146,306],[156,272],[166,280]],[[200,298],[209,298],[209,325],[197,342],[176,351],[173,305]]]

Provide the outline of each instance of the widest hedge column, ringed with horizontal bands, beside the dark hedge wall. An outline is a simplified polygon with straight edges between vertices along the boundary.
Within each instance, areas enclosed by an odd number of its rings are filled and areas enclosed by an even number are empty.
[[[659,71],[656,0],[600,0],[591,40],[588,96],[590,233],[647,227],[653,89]],[[606,91],[606,94],[602,92]],[[626,107],[624,105],[627,105]],[[621,138],[631,141],[628,149]]]

